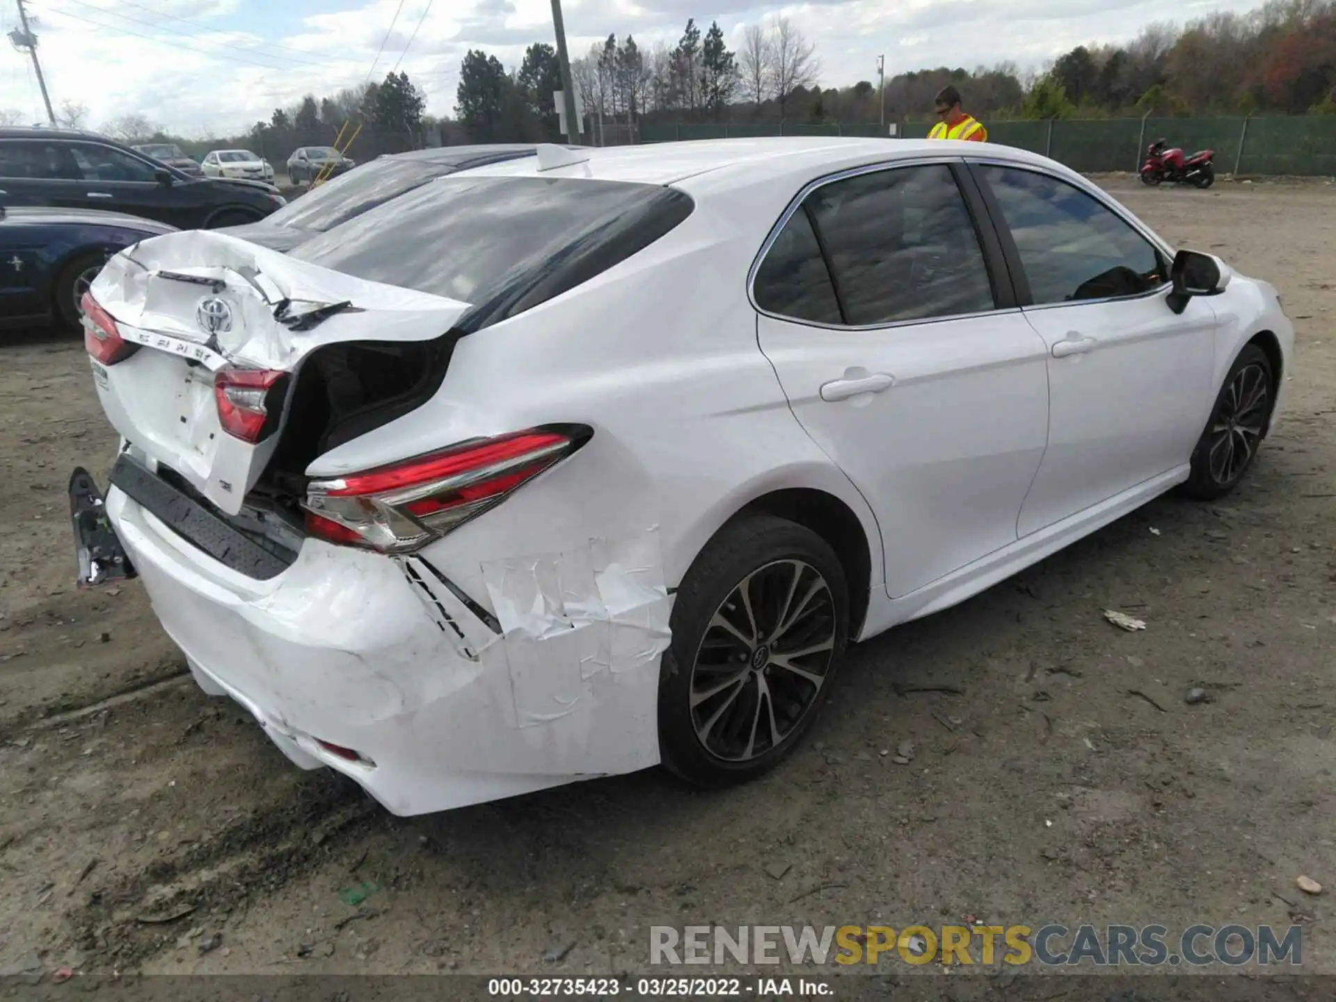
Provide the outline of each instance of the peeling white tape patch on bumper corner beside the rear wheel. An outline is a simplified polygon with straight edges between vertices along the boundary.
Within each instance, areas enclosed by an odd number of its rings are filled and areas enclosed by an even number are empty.
[[[671,603],[657,526],[578,550],[482,564],[501,624],[518,727],[558,720],[599,679],[652,672],[668,647]]]

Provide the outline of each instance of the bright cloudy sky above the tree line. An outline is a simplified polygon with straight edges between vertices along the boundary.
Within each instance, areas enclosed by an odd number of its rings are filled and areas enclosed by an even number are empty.
[[[931,65],[1022,68],[1090,41],[1126,41],[1166,13],[1185,21],[1259,0],[564,0],[572,57],[609,32],[644,48],[676,41],[688,17],[717,20],[733,48],[747,24],[783,15],[816,43],[820,81],[840,87]],[[390,69],[409,73],[428,111],[453,115],[469,48],[518,65],[552,41],[550,0],[25,0],[52,104],[88,108],[86,124],[143,115],[168,131],[227,135],[303,94],[322,96]],[[395,16],[397,15],[397,16]],[[391,27],[393,25],[393,27]],[[17,27],[0,0],[0,32]],[[0,110],[44,120],[25,53],[0,45]]]

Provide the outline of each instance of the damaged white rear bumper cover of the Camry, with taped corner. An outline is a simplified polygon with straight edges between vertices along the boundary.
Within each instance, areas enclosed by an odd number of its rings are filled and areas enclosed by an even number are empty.
[[[317,540],[255,580],[219,537],[192,541],[226,522],[154,489],[119,472],[107,494],[154,611],[200,687],[240,703],[298,766],[413,815],[659,762],[671,600],[656,530],[484,564],[493,616],[421,557]]]

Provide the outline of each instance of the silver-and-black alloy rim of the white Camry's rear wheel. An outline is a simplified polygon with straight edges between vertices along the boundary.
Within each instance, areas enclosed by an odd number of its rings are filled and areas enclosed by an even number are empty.
[[[830,585],[802,560],[744,577],[719,605],[691,673],[691,719],[717,759],[778,748],[812,708],[835,652]]]

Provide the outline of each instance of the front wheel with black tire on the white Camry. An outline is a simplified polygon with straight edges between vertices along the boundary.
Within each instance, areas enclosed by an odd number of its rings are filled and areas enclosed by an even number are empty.
[[[1188,497],[1212,501],[1238,485],[1267,436],[1276,406],[1275,385],[1267,353],[1245,346],[1229,367],[1192,453],[1192,476],[1182,485]]]

